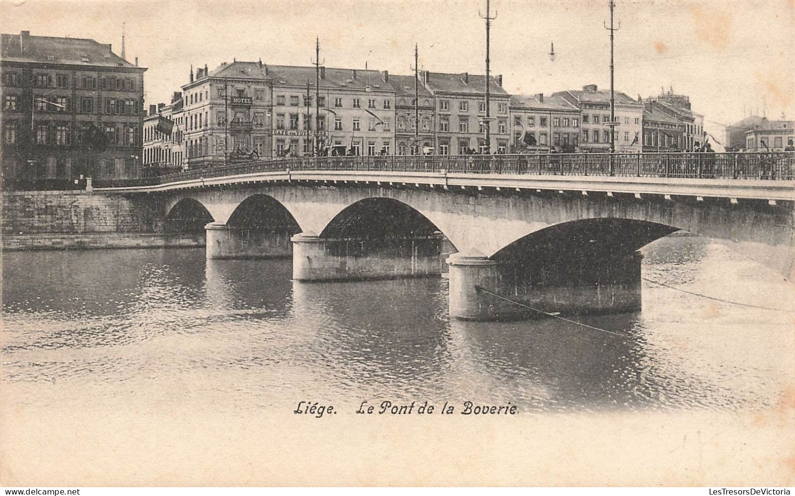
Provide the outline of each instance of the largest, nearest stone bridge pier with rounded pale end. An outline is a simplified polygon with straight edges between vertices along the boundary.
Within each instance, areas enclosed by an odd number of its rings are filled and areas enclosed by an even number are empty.
[[[450,266],[450,317],[509,321],[549,313],[621,313],[641,309],[638,252],[609,260],[532,260],[498,263],[485,256],[455,253]],[[556,262],[560,262],[556,260]]]

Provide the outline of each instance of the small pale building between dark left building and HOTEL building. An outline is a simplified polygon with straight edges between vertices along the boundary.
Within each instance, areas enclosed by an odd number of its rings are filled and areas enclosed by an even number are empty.
[[[149,106],[144,117],[142,175],[163,175],[188,168],[183,110],[180,91],[174,92],[169,105]]]

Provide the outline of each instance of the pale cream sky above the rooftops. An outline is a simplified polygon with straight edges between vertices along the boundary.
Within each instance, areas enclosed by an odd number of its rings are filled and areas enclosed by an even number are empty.
[[[510,93],[610,87],[607,0],[491,0],[491,73]],[[795,118],[795,0],[616,0],[615,88],[688,94],[718,140],[750,113]],[[309,65],[483,74],[486,0],[0,0],[2,33],[92,38],[148,67],[146,104],[191,64]],[[554,43],[556,58],[549,59]]]

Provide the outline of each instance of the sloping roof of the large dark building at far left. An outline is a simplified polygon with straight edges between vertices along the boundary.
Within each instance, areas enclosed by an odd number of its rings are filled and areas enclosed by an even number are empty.
[[[28,63],[68,63],[82,66],[134,67],[111,51],[111,44],[85,38],[61,38],[19,34],[0,35],[0,59]]]

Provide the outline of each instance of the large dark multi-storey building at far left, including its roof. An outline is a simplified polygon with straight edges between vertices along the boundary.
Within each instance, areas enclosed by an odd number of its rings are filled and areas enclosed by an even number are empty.
[[[95,40],[22,31],[0,45],[6,186],[138,177],[144,67]]]

